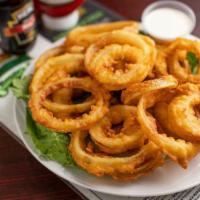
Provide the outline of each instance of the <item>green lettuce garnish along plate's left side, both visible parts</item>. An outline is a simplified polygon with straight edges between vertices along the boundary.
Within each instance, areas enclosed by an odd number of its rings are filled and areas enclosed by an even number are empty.
[[[26,76],[22,79],[15,79],[13,80],[12,84],[13,94],[18,99],[24,100],[26,104],[29,99],[28,85],[30,79],[30,76]],[[36,123],[33,120],[31,112],[28,108],[26,112],[25,133],[31,137],[41,157],[48,160],[57,161],[63,166],[75,166],[75,163],[68,150],[70,135],[54,132]]]

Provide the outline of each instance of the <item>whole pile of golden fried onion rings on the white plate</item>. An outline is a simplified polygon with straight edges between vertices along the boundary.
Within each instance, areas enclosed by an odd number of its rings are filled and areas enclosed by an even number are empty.
[[[69,133],[77,165],[135,180],[200,151],[200,43],[161,44],[134,21],[78,27],[35,64],[33,119]]]

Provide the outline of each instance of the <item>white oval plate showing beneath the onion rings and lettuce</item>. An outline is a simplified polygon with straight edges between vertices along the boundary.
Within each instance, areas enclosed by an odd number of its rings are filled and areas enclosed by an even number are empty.
[[[30,73],[31,67],[27,73]],[[25,105],[22,101],[15,100],[14,119],[17,131],[26,148],[46,168],[63,179],[98,192],[131,197],[149,197],[166,195],[189,189],[200,184],[200,156],[195,157],[187,170],[182,169],[170,160],[166,160],[163,167],[158,168],[152,174],[134,182],[117,182],[111,178],[97,178],[80,169],[62,167],[60,164],[44,160],[34,147],[31,138],[24,134]]]

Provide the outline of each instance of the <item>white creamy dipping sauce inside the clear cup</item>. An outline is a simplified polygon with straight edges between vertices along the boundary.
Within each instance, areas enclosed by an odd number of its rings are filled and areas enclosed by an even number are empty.
[[[160,39],[174,39],[191,31],[192,20],[174,8],[158,8],[148,13],[143,21],[145,30]]]

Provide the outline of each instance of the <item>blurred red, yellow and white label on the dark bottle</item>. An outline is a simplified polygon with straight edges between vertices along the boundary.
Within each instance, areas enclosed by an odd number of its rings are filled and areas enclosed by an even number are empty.
[[[3,29],[4,36],[15,39],[19,46],[25,45],[35,37],[35,21],[33,3],[29,2],[11,13],[11,18]]]

